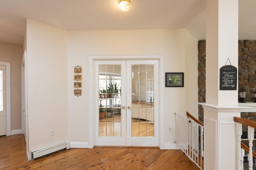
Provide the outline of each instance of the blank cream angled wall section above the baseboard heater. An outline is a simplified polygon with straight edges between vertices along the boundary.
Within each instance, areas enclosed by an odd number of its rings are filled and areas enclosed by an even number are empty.
[[[67,31],[27,20],[26,41],[32,151],[68,140]]]

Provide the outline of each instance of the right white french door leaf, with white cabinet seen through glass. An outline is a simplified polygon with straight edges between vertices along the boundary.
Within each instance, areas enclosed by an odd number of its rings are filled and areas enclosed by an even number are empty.
[[[127,146],[158,144],[158,61],[126,62]]]

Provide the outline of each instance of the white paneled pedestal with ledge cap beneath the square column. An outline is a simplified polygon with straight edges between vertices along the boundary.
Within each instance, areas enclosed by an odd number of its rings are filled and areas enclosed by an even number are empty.
[[[239,131],[237,130],[234,117],[240,117],[240,112],[245,107],[200,104],[204,108],[204,169],[237,170],[239,163],[237,150],[238,148],[241,150],[239,144],[242,128],[238,127]]]

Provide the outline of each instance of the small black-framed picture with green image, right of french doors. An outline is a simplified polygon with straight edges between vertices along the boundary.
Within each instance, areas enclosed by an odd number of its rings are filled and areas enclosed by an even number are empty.
[[[166,72],[166,87],[184,87],[184,72]]]

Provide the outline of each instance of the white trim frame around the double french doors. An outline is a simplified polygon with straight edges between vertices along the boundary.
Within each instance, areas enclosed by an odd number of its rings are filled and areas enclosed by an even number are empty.
[[[158,129],[158,137],[159,137],[159,148],[164,149],[164,56],[163,55],[114,55],[114,56],[92,56],[89,55],[88,57],[89,67],[88,67],[88,77],[89,77],[89,84],[88,84],[88,92],[89,92],[89,103],[88,103],[88,148],[94,147],[94,114],[95,108],[93,107],[93,101],[96,100],[97,96],[94,96],[94,61],[96,60],[158,60],[159,61],[159,129]],[[161,95],[162,94],[162,95]],[[157,132],[156,132],[157,133]]]

